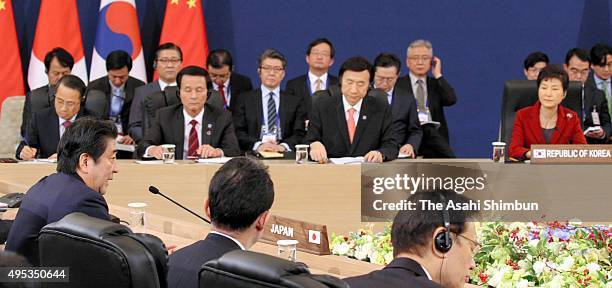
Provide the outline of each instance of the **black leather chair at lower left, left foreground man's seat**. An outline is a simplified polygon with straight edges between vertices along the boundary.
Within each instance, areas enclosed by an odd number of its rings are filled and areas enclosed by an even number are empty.
[[[69,283],[44,287],[166,287],[168,254],[152,235],[72,213],[38,237],[41,267],[69,267]]]

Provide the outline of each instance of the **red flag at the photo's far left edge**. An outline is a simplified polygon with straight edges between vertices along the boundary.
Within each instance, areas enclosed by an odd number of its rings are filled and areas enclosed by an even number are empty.
[[[2,39],[0,55],[3,56],[5,62],[0,65],[1,107],[7,97],[23,96],[25,93],[11,0],[0,0],[0,39]]]

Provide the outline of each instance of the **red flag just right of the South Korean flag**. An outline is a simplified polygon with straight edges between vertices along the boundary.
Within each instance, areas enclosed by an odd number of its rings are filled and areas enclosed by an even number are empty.
[[[201,0],[168,0],[159,39],[160,44],[166,42],[181,47],[183,67],[204,67],[208,56],[208,41]]]

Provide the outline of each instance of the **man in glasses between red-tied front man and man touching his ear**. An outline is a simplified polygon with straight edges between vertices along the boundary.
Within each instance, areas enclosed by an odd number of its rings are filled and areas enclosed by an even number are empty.
[[[374,60],[374,87],[383,90],[393,112],[393,126],[400,155],[415,158],[423,131],[416,110],[416,99],[396,87],[401,62],[394,54],[381,53]]]

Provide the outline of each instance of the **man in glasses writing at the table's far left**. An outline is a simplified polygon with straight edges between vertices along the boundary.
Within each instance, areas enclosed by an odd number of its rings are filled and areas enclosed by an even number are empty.
[[[81,107],[85,83],[79,77],[66,75],[57,81],[53,107],[32,114],[26,137],[17,147],[15,157],[20,160],[57,158],[57,144],[66,127],[77,118],[89,115]]]

